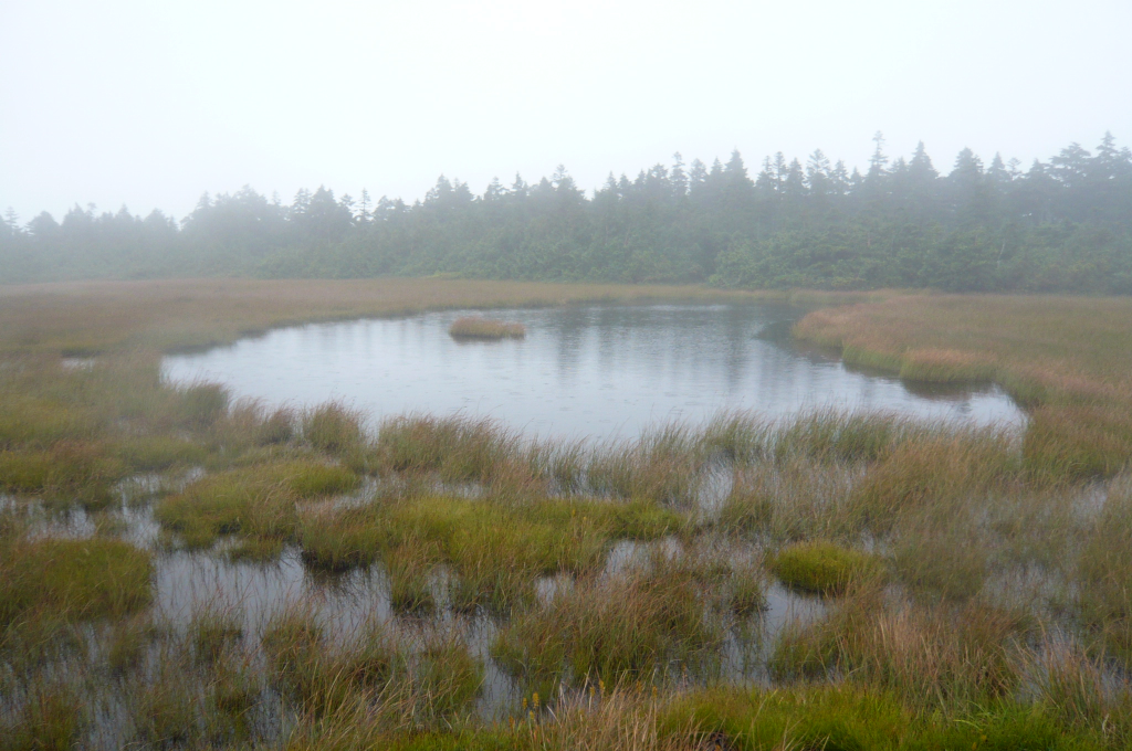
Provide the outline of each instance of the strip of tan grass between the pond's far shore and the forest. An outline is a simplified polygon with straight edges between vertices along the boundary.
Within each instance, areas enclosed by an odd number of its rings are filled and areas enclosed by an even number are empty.
[[[168,351],[278,326],[454,308],[646,300],[786,301],[702,286],[460,279],[160,279],[0,286],[0,352]]]

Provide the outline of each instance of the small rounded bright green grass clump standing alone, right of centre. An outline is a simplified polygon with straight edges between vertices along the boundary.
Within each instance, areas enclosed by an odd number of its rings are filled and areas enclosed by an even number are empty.
[[[771,559],[771,571],[788,587],[839,595],[852,584],[880,578],[884,567],[872,553],[814,541],[783,547]]]

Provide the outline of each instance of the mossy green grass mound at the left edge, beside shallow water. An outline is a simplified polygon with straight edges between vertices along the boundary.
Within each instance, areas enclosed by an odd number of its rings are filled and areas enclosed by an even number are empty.
[[[140,610],[153,597],[152,555],[105,538],[17,542],[0,549],[0,624],[28,611],[82,620]]]

